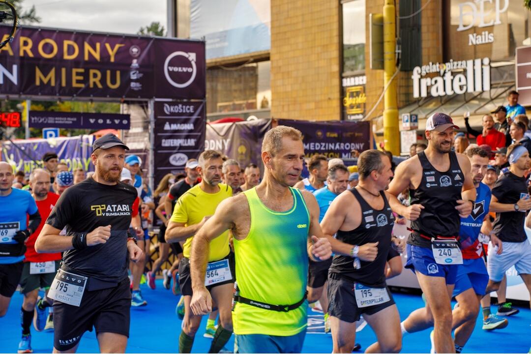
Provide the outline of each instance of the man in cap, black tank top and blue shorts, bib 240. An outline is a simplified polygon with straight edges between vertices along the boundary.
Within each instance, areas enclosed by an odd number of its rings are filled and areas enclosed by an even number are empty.
[[[455,350],[450,298],[457,266],[463,264],[457,239],[460,218],[470,215],[476,200],[470,160],[451,151],[454,129],[458,128],[444,113],[431,115],[426,120],[427,149],[400,163],[389,185],[391,208],[412,221],[406,267],[415,271],[426,296],[426,307],[402,322],[402,334],[434,324],[432,339],[438,353]],[[410,189],[410,206],[397,199],[406,188]]]

